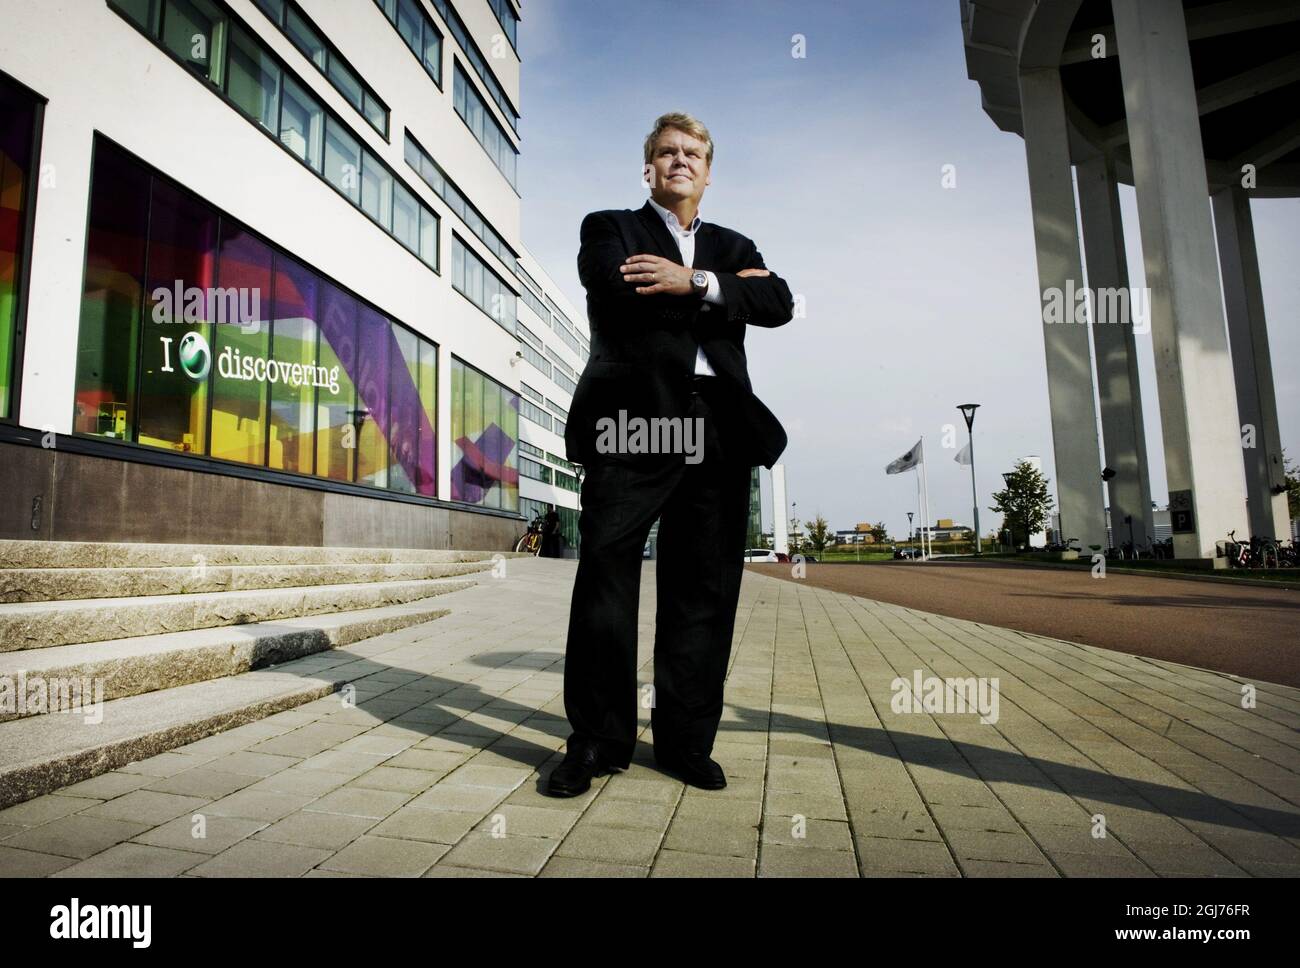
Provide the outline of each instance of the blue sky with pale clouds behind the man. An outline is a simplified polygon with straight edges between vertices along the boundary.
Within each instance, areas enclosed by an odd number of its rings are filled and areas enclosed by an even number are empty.
[[[708,127],[701,217],[754,239],[806,308],[745,337],[754,392],[789,434],[781,463],[801,521],[905,534],[915,477],[884,466],[924,438],[931,520],[968,525],[970,469],[953,460],[962,403],[980,404],[983,533],[1018,457],[1041,456],[1054,482],[1024,146],[966,77],[957,0],[528,0],[520,56],[523,238],[580,312],[582,216],[644,204],[641,146],[659,114]],[[1121,204],[1136,287],[1132,188]],[[1252,212],[1282,443],[1300,457],[1300,200]],[[1150,337],[1136,339],[1164,507]]]

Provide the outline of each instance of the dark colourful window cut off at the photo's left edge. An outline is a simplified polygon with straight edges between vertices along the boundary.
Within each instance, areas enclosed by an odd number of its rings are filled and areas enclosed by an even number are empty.
[[[13,416],[18,285],[32,175],[36,105],[0,77],[0,420]]]

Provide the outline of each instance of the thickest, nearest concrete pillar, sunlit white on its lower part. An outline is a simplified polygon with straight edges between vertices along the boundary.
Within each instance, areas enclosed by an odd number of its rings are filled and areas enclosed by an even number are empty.
[[[1240,422],[1180,0],[1113,0],[1175,557],[1248,531]]]

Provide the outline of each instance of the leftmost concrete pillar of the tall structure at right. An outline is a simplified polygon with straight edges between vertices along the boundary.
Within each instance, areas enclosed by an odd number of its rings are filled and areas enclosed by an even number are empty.
[[[1039,261],[1057,509],[1062,537],[1078,538],[1079,547],[1087,551],[1089,544],[1106,544],[1106,511],[1101,495],[1101,447],[1087,317],[1075,322],[1072,295],[1083,291],[1083,260],[1065,101],[1057,70],[1020,74],[1020,110]],[[1062,321],[1050,321],[1053,301],[1063,312]]]

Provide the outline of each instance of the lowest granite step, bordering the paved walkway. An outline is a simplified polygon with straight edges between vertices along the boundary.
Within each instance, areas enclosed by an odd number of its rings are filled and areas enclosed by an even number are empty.
[[[0,722],[0,808],[318,699],[385,667],[346,648],[104,703],[103,719]]]

